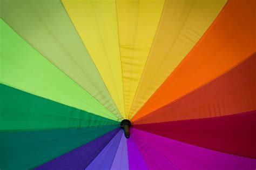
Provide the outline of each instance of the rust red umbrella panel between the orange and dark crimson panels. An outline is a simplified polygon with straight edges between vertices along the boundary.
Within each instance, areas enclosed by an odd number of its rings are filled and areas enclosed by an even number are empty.
[[[256,110],[256,53],[232,70],[133,124],[218,117]]]

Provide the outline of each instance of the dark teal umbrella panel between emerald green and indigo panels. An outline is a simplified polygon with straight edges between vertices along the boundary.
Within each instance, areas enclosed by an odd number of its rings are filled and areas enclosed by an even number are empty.
[[[29,169],[100,137],[117,126],[0,132],[0,168]]]

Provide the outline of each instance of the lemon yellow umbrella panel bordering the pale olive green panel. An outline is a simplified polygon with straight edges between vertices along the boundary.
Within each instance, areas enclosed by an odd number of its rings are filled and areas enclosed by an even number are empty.
[[[62,0],[120,113],[124,113],[116,2]]]

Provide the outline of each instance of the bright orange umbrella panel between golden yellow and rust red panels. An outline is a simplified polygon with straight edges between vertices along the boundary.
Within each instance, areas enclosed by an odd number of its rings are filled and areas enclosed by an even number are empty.
[[[255,1],[228,1],[193,50],[132,120],[162,107],[232,69],[255,52]]]

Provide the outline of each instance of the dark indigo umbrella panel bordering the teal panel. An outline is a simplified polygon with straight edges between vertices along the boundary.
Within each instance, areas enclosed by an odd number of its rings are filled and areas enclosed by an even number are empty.
[[[97,157],[102,149],[109,144],[111,139],[119,131],[120,129],[118,128],[106,133],[102,137],[49,161],[36,169],[84,169]]]

